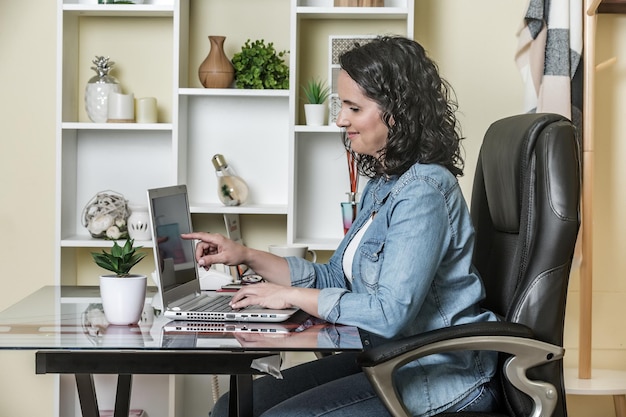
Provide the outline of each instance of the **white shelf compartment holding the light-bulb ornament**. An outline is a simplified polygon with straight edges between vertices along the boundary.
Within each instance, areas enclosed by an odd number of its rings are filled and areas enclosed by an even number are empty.
[[[180,123],[187,137],[185,181],[190,200],[198,208],[221,207],[208,212],[258,213],[265,210],[262,207],[280,207],[279,214],[284,213],[288,201],[288,96],[190,95],[184,100],[187,118]],[[228,209],[218,200],[211,163],[218,153],[248,183],[246,205]]]

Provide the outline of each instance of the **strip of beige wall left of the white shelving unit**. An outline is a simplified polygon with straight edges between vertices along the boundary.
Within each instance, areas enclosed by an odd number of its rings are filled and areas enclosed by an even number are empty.
[[[0,9],[4,309],[53,281],[56,2],[3,1]],[[35,375],[34,365],[32,352],[0,352],[0,415],[52,415],[54,377]]]

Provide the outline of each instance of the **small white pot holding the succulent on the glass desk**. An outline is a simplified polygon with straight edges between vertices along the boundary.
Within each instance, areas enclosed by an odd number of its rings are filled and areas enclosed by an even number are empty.
[[[100,297],[110,324],[137,324],[146,301],[146,276],[100,276]]]

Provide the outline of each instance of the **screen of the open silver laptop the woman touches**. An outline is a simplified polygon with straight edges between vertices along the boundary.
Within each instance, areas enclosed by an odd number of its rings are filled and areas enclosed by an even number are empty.
[[[152,232],[155,236],[155,260],[165,293],[196,279],[193,241],[183,240],[181,233],[192,231],[187,187],[149,190]]]

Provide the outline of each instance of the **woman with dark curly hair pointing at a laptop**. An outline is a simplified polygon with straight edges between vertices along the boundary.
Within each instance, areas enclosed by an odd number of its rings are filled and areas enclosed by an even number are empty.
[[[352,228],[327,264],[280,258],[207,233],[201,265],[247,264],[268,281],[246,286],[234,308],[298,306],[332,323],[358,326],[373,345],[446,326],[495,320],[483,311],[472,266],[474,230],[457,182],[462,174],[456,103],[437,66],[415,41],[381,37],[340,58],[337,85],[345,145],[370,178]],[[490,411],[497,401],[488,352],[432,355],[399,370],[414,415]],[[389,415],[353,354],[255,381],[255,416]],[[224,416],[222,397],[212,416]]]

